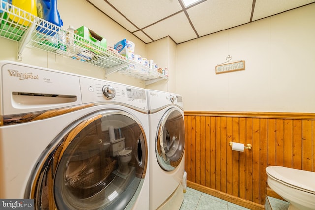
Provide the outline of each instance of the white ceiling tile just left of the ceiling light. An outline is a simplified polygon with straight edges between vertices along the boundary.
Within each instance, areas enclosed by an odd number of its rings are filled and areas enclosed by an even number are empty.
[[[108,0],[140,29],[182,9],[178,0]]]

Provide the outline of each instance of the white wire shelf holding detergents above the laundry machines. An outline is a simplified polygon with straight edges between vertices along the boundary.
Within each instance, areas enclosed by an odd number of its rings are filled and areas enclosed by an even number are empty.
[[[0,0],[0,37],[19,42],[19,53],[24,46],[38,48],[67,58],[105,68],[105,73],[118,72],[141,80],[168,79],[134,60],[106,49],[93,41],[46,20],[34,16],[18,7]]]

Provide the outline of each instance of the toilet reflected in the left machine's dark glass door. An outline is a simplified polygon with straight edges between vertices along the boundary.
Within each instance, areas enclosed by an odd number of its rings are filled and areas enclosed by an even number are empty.
[[[112,157],[118,157],[118,172],[122,175],[129,174],[132,150],[125,149],[125,138],[111,140],[110,152]]]

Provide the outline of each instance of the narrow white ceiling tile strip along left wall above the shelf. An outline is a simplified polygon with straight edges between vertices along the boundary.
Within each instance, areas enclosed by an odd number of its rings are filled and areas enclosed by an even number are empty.
[[[114,21],[119,23],[128,31],[138,30],[134,25],[132,25],[126,18],[120,15],[115,9],[113,9],[108,3],[103,0],[89,0],[98,9],[104,12],[108,17],[112,18]]]

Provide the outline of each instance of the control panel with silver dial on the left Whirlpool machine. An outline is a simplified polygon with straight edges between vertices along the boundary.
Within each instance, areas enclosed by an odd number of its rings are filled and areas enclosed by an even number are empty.
[[[119,102],[147,110],[146,92],[142,88],[106,80],[80,77],[82,102]]]

